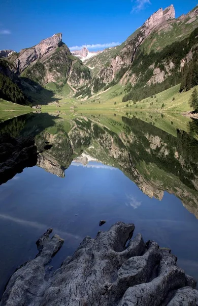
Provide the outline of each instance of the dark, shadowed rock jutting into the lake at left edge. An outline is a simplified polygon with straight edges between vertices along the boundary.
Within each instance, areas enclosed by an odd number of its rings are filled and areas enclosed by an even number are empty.
[[[22,172],[25,167],[37,164],[37,147],[34,137],[17,139],[4,134],[0,137],[0,185]]]

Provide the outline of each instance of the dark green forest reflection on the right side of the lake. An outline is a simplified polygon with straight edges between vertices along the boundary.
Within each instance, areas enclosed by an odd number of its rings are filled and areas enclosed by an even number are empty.
[[[128,150],[136,165],[141,161],[156,164],[160,169],[178,176],[183,184],[194,189],[192,180],[197,172],[198,160],[198,141],[195,138],[180,130],[177,131],[177,137],[174,137],[135,117],[122,117],[122,120],[128,125],[127,134],[132,132],[136,136],[136,140],[128,144]],[[149,136],[159,139],[155,149],[150,149]],[[168,150],[168,154],[162,154],[163,147]],[[178,158],[175,156],[176,151]],[[185,163],[181,164],[180,158],[185,160]]]

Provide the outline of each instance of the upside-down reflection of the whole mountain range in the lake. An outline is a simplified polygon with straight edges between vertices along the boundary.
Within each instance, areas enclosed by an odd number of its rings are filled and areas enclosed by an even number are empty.
[[[160,117],[160,120],[163,120]],[[173,122],[171,121],[171,124]],[[149,197],[175,194],[198,218],[197,121],[169,134],[137,117],[28,114],[0,124],[1,134],[34,135],[37,166],[59,177],[72,163],[119,168]],[[46,143],[51,144],[49,150]],[[99,165],[99,164],[98,164]],[[129,197],[127,205],[141,205]]]

